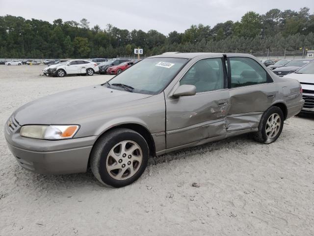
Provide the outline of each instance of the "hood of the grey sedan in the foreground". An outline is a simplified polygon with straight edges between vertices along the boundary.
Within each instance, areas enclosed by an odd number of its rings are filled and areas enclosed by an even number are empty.
[[[88,119],[132,101],[152,95],[109,89],[97,85],[59,92],[26,103],[14,112],[20,125],[80,124]]]

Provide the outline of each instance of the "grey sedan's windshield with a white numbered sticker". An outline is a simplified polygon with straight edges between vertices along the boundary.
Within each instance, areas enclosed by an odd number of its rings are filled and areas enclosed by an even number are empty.
[[[113,84],[123,84],[132,92],[157,94],[162,91],[182,69],[188,59],[144,59],[109,81],[111,89],[123,89]],[[107,85],[107,84],[106,84]]]

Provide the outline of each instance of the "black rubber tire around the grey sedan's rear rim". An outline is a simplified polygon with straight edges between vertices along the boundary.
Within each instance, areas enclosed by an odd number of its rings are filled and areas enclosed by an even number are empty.
[[[269,118],[271,118],[272,115],[275,115],[275,114],[278,114],[280,117],[280,127],[279,127],[279,130],[277,131],[277,134],[274,137],[269,137],[266,133],[266,127],[270,128],[270,129],[272,127],[269,127],[267,125],[267,121]],[[277,122],[276,122],[276,124],[277,124]],[[259,124],[259,131],[253,133],[253,138],[260,143],[271,144],[278,139],[278,137],[280,136],[280,134],[283,130],[283,127],[284,127],[283,111],[279,107],[272,106],[272,107],[268,108],[264,112],[264,114],[262,115],[262,118],[261,118],[260,124]]]

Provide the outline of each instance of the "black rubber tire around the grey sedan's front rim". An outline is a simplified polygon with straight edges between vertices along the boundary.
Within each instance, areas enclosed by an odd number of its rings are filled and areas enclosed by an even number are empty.
[[[137,167],[137,172],[133,176],[117,180],[110,176],[106,165],[110,150],[123,141],[135,142],[141,148],[142,160],[139,167]],[[90,166],[94,176],[104,185],[123,187],[136,181],[143,174],[147,166],[148,157],[149,148],[147,142],[139,133],[131,129],[117,128],[108,131],[97,140],[90,154]],[[120,164],[117,163],[117,165]]]

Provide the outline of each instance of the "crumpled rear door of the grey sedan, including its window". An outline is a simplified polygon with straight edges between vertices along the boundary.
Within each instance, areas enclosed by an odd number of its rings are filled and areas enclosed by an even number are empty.
[[[257,128],[277,88],[262,65],[252,58],[228,57],[228,74],[227,132]]]

